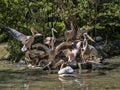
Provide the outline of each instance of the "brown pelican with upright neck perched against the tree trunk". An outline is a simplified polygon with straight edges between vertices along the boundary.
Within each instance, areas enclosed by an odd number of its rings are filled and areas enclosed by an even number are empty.
[[[65,31],[65,39],[66,41],[69,41],[71,40],[73,37],[74,37],[74,26],[73,26],[73,23],[71,22],[71,30],[66,30]]]

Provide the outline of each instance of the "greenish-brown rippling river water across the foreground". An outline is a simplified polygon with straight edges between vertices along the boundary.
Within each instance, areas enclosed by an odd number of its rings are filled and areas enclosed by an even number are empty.
[[[56,71],[28,69],[0,61],[0,90],[120,90],[120,56],[108,58],[102,70],[76,70],[77,77],[59,77]]]

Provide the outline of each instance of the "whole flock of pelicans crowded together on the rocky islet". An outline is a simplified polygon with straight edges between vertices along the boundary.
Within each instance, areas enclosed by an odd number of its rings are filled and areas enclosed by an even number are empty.
[[[23,47],[21,48],[23,52],[32,51],[32,46],[36,49],[38,49],[39,47],[43,48],[44,51],[49,55],[49,65],[51,64],[50,62],[54,63],[52,68],[61,66],[60,69],[62,69],[64,67],[64,64],[66,64],[67,62],[76,61],[77,58],[79,58],[81,63],[86,63],[95,61],[97,57],[97,50],[94,46],[89,44],[88,40],[92,42],[95,41],[88,35],[87,31],[82,29],[78,30],[76,35],[77,40],[72,41],[75,29],[73,23],[71,23],[71,30],[65,31],[65,42],[62,42],[59,45],[56,45],[57,42],[54,32],[57,33],[57,30],[55,30],[54,28],[51,29],[52,37],[46,37],[44,40],[44,44],[39,43],[35,45],[32,45],[34,42],[34,38],[42,35],[35,28],[30,29],[30,31],[32,32],[31,36],[24,35],[21,32],[10,27],[4,26],[4,29],[23,44]],[[67,61],[64,59],[59,59],[55,61],[60,52],[64,54],[64,56],[67,58]]]

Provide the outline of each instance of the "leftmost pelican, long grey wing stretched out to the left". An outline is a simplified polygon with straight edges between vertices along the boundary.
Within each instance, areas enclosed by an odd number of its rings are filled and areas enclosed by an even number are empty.
[[[31,44],[33,43],[34,38],[36,36],[41,36],[41,34],[38,33],[34,28],[30,29],[32,32],[31,36],[26,36],[23,33],[15,30],[15,29],[12,29],[10,27],[4,26],[3,28],[6,31],[8,31],[15,39],[17,39],[18,41],[20,41],[23,44],[23,47],[21,49],[23,52],[30,50]]]

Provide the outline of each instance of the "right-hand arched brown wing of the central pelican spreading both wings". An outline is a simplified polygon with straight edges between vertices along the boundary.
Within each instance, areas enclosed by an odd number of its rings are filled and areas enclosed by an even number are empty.
[[[73,43],[71,42],[62,42],[61,44],[59,44],[56,49],[55,49],[55,52],[56,54],[58,54],[61,50],[63,49],[69,49],[69,48],[72,48],[73,47]]]

